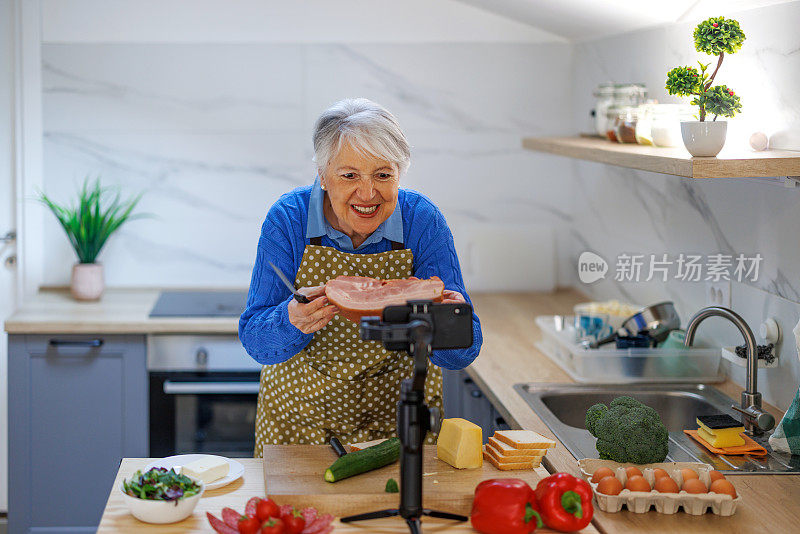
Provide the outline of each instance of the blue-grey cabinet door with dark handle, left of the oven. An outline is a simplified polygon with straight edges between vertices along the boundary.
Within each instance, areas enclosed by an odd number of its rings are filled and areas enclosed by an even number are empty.
[[[145,336],[8,339],[9,532],[95,532],[121,459],[148,455]]]

